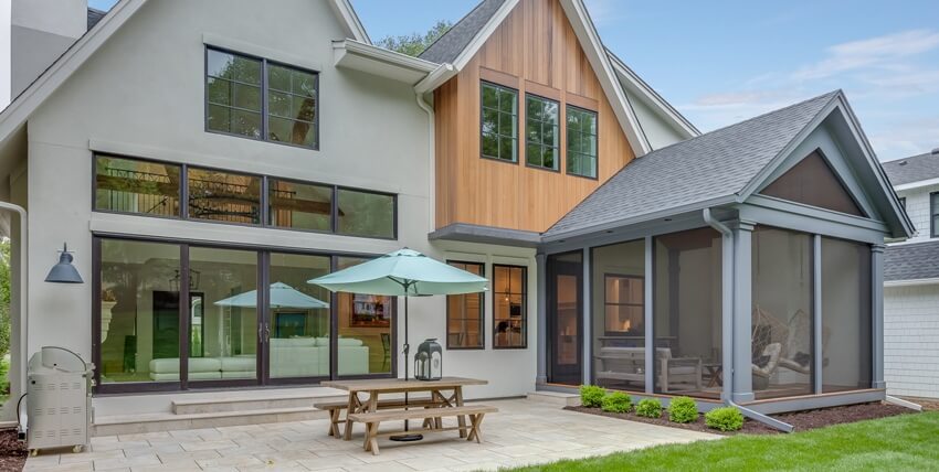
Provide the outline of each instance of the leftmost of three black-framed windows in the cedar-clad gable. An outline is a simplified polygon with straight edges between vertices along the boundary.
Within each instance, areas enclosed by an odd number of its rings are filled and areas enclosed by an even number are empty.
[[[483,157],[518,162],[518,90],[488,82],[479,88]]]

